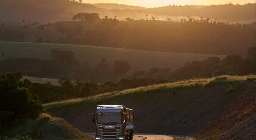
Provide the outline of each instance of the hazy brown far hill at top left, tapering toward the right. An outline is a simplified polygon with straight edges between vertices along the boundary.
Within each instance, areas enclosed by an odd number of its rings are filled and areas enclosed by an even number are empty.
[[[71,2],[70,0],[1,0],[0,18],[3,21],[22,21],[28,23],[39,21],[48,23],[54,21],[72,20],[79,12],[104,12],[90,4]]]

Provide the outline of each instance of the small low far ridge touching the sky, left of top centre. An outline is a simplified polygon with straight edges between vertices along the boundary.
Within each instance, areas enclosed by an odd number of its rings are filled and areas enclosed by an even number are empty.
[[[95,3],[95,4],[91,4],[91,5],[94,5],[95,7],[99,7],[99,8],[109,9],[109,10],[112,10],[112,9],[120,9],[120,10],[147,9],[146,7],[124,5],[124,4],[117,4],[117,3]]]

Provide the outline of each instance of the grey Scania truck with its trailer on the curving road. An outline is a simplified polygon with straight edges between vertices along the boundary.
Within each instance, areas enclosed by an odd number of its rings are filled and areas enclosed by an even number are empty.
[[[125,105],[97,105],[95,140],[132,140],[134,114]]]

